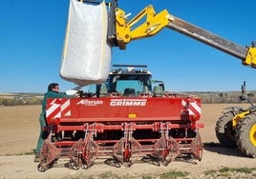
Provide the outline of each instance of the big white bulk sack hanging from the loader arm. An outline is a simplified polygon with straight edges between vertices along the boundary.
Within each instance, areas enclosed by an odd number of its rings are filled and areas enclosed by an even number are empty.
[[[79,86],[104,82],[110,70],[107,10],[99,5],[70,1],[60,76]]]

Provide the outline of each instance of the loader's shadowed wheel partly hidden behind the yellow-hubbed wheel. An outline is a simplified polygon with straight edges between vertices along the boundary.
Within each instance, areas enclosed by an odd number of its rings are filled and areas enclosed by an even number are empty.
[[[232,128],[232,119],[234,115],[232,111],[224,113],[216,122],[215,132],[216,137],[222,146],[228,148],[236,148],[236,142],[234,137],[234,131]]]

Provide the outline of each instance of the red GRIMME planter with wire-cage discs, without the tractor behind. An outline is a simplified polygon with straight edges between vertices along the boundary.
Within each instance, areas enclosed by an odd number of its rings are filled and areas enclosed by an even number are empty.
[[[145,155],[154,156],[163,165],[181,154],[201,160],[200,116],[201,100],[190,97],[49,99],[45,130],[50,134],[38,169],[49,169],[61,157],[71,159],[72,169],[86,169],[101,155],[129,166]],[[53,141],[53,135],[62,131],[80,131],[84,136]],[[137,131],[153,134],[140,137]],[[121,135],[97,137],[116,132]]]

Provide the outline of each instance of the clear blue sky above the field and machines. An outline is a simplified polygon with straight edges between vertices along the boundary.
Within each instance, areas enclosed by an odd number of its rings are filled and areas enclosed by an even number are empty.
[[[254,0],[118,1],[131,18],[149,4],[243,47],[256,40]],[[68,9],[69,0],[0,1],[0,92],[45,92],[52,82],[75,88],[59,76]],[[256,69],[169,29],[127,50],[113,48],[112,64],[146,64],[173,91],[240,90],[244,81],[246,89],[256,89]]]

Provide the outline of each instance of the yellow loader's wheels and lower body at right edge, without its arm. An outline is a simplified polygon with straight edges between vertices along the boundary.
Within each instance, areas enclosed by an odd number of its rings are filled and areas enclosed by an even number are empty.
[[[242,85],[240,99],[247,101],[250,107],[228,107],[216,122],[216,136],[222,146],[238,148],[246,156],[256,157],[256,106]]]

